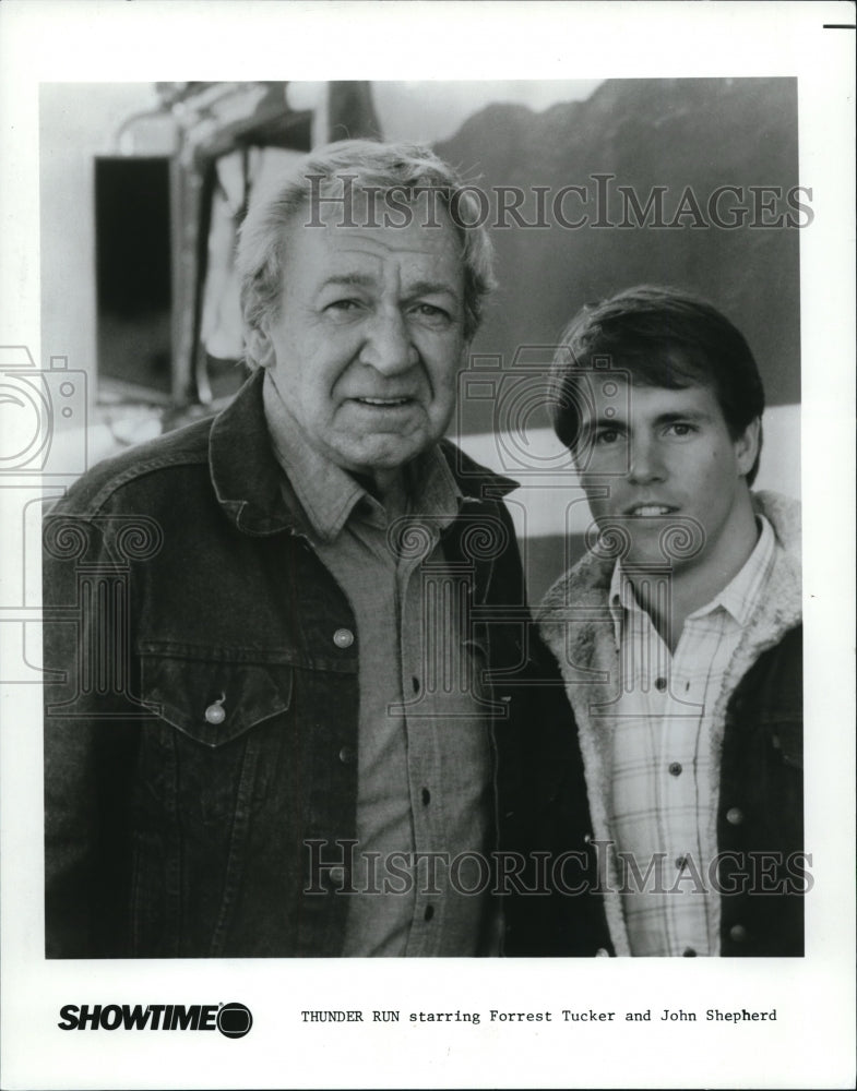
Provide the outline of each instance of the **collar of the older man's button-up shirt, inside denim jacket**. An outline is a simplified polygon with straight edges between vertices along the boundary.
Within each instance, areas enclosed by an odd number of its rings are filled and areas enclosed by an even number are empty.
[[[379,501],[350,473],[303,441],[267,374],[262,395],[274,454],[295,490],[311,531],[323,542],[333,542],[352,515],[362,515],[373,524],[385,526],[388,514]],[[452,523],[464,495],[437,446],[409,463],[404,468],[404,478],[408,514],[428,516],[439,528]]]

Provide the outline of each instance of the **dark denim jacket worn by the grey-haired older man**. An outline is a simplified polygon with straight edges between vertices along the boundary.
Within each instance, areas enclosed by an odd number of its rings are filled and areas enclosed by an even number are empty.
[[[340,954],[359,633],[284,489],[260,377],[95,467],[46,520],[48,957]],[[501,502],[514,483],[442,451],[480,501],[442,542],[492,682],[497,841],[520,847],[522,743],[570,711],[532,685],[551,666]]]

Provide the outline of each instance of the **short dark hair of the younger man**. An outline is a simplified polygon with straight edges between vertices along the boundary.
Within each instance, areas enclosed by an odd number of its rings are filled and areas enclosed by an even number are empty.
[[[629,371],[640,386],[707,386],[734,440],[764,410],[753,353],[725,315],[677,288],[638,285],[584,307],[562,334],[551,369],[550,415],[567,447],[574,448],[581,436],[578,372],[605,361]],[[759,455],[748,484],[758,470]]]

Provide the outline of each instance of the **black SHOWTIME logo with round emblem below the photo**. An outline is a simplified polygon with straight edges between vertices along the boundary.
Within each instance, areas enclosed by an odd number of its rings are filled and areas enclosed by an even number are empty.
[[[245,1004],[66,1004],[60,1030],[218,1030],[243,1038],[253,1026]]]

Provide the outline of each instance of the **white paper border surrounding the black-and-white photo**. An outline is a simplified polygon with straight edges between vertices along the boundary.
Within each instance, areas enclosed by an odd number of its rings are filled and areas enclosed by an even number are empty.
[[[807,721],[807,957],[782,960],[70,961],[43,958],[38,686],[0,693],[2,1071],[7,1088],[847,1087],[854,1077],[854,31],[848,3],[0,5],[0,343],[41,360],[38,91],[165,79],[564,80],[796,76]],[[832,24],[824,28],[824,24]],[[0,488],[0,505],[9,501]],[[22,564],[3,540],[4,575]],[[17,550],[17,552],[15,552]],[[29,563],[29,559],[27,561]],[[11,566],[11,570],[9,568]],[[12,577],[10,577],[12,578]],[[2,616],[2,614],[0,614]],[[10,632],[15,631],[10,636]],[[19,638],[14,624],[0,639]],[[3,647],[0,646],[0,652]],[[240,1041],[81,1034],[59,1009],[240,1002]],[[776,1023],[669,1024],[664,1008],[771,1010]],[[308,1024],[306,1009],[400,1009],[398,1024]],[[563,1022],[644,1010],[653,1022]],[[490,1022],[491,1009],[554,1011]],[[412,1010],[480,1024],[409,1023]],[[366,1019],[370,1016],[366,1015]]]

